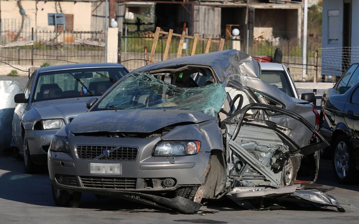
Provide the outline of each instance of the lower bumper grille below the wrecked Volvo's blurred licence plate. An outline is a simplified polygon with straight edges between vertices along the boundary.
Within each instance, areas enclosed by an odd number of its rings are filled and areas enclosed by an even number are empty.
[[[136,189],[136,178],[83,176],[80,176],[79,178],[84,187],[102,189]]]

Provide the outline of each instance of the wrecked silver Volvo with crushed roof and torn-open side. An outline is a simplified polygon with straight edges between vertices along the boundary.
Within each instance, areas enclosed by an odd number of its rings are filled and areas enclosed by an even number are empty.
[[[78,206],[87,192],[194,213],[202,199],[293,193],[304,162],[300,180],[315,181],[328,143],[311,123],[312,105],[259,75],[236,50],[131,72],[53,137],[55,204]]]

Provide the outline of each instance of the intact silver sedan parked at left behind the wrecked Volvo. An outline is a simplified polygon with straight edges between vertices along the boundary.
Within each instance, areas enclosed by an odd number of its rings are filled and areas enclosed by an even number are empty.
[[[56,65],[37,69],[17,94],[13,140],[24,158],[26,172],[46,164],[53,135],[78,114],[87,110],[85,101],[101,96],[128,73],[116,63]]]

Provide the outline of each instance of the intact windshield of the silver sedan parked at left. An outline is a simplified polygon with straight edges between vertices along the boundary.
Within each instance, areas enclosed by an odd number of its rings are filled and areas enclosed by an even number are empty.
[[[39,73],[34,102],[101,96],[111,85],[127,74],[124,68],[86,68]]]

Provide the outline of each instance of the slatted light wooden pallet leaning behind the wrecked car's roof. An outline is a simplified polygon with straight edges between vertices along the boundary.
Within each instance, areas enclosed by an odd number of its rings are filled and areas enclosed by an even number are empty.
[[[154,34],[153,44],[152,44],[152,48],[151,48],[151,54],[149,55],[149,60],[148,60],[149,64],[153,63],[154,54],[156,52],[157,41],[158,41],[160,34],[167,35],[167,42],[166,42],[165,54],[163,56],[163,61],[168,59],[169,46],[171,44],[172,36],[181,38],[180,42],[178,44],[177,58],[180,58],[182,55],[182,48],[183,48],[183,43],[185,41],[185,38],[193,40],[192,51],[191,51],[190,55],[195,54],[198,41],[206,41],[207,42],[205,53],[210,52],[211,43],[219,43],[218,51],[223,50],[223,46],[224,46],[224,39],[222,39],[222,38],[220,41],[217,41],[217,40],[212,40],[211,37],[208,39],[200,38],[200,37],[198,37],[198,34],[196,34],[194,37],[192,37],[192,36],[186,35],[185,31],[183,31],[182,34],[175,34],[175,33],[173,33],[172,29],[169,29],[169,32],[165,32],[165,31],[162,31],[160,27],[157,27],[156,32]]]

